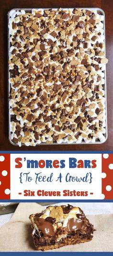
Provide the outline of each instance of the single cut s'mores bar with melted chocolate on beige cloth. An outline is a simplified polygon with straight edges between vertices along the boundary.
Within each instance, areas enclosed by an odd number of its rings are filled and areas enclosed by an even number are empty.
[[[50,250],[64,245],[85,243],[92,239],[93,225],[79,207],[68,204],[48,206],[42,213],[29,216],[36,250]]]

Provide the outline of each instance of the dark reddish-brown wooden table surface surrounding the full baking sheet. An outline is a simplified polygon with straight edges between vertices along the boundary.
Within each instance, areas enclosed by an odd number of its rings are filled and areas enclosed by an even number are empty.
[[[105,12],[108,139],[99,145],[21,147],[8,140],[7,13],[12,8],[98,7]],[[0,0],[0,150],[113,150],[113,0]]]

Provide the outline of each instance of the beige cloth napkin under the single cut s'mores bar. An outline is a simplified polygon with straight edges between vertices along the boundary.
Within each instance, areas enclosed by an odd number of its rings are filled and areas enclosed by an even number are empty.
[[[41,212],[46,206],[34,202],[19,203],[11,220],[0,228],[0,252],[35,252],[31,237],[32,229],[29,215]],[[92,241],[68,245],[54,252],[112,252],[113,251],[113,215],[87,216],[94,228]]]

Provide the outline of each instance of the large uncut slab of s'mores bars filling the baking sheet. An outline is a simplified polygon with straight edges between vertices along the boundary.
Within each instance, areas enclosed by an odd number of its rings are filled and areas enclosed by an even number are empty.
[[[103,143],[103,11],[13,9],[8,15],[10,142]]]

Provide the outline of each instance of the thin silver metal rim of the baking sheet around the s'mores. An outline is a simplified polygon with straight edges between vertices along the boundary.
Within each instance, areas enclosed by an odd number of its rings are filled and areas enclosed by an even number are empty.
[[[73,7],[74,8],[74,7]],[[62,10],[73,10],[73,8],[62,8]],[[19,11],[21,12],[22,10],[25,11],[25,13],[31,13],[32,10],[35,9],[35,10],[38,10],[38,9],[42,9],[42,10],[48,10],[50,8],[14,8],[14,9],[11,9],[11,11],[9,11],[8,13],[8,23],[9,23],[9,18],[11,18],[11,12],[12,11]],[[53,10],[57,10],[59,8],[52,8]],[[106,52],[105,52],[105,13],[104,11],[101,9],[101,8],[78,8],[76,7],[76,9],[80,9],[80,10],[90,10],[90,11],[97,11],[97,13],[101,13],[103,16],[104,16],[104,20],[103,20],[103,30],[104,30],[104,54],[106,56]],[[20,13],[21,15],[22,13]],[[15,13],[16,15],[16,13]],[[19,15],[19,14],[18,14]],[[10,50],[10,34],[9,34],[9,28],[8,28],[8,59],[9,59],[9,50]],[[10,105],[9,105],[9,96],[10,96],[10,90],[11,90],[11,86],[10,86],[10,82],[9,82],[9,78],[10,78],[10,72],[9,72],[9,65],[8,65],[8,127],[9,127],[9,133],[8,133],[8,138],[9,138],[9,141],[12,145],[14,146],[19,146],[17,145],[16,143],[12,142],[11,140],[11,133],[10,133],[10,122],[11,122],[11,118],[10,118]],[[96,139],[95,142],[80,142],[80,143],[77,143],[77,142],[73,142],[73,143],[68,143],[68,142],[63,142],[63,143],[52,143],[52,144],[49,144],[49,143],[45,143],[45,142],[41,142],[40,144],[37,144],[36,146],[40,146],[40,145],[95,145],[95,144],[102,144],[104,143],[106,140],[107,140],[107,137],[108,137],[108,129],[107,129],[107,92],[106,92],[106,65],[105,65],[105,70],[104,70],[104,78],[105,78],[105,84],[103,86],[103,89],[105,91],[105,114],[106,114],[106,133],[104,134],[104,137],[105,137],[105,140],[103,142],[101,142],[99,139]],[[22,146],[26,146],[25,144],[22,143]],[[27,146],[26,146],[27,147]]]

